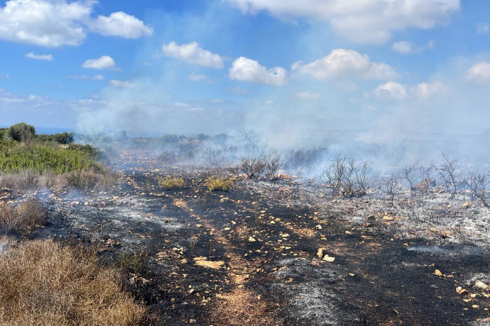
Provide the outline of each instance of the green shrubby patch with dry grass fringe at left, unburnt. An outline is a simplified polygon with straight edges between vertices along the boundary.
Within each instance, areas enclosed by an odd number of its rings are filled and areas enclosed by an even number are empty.
[[[116,176],[98,162],[91,145],[73,144],[72,133],[36,135],[32,125],[18,123],[0,130],[0,186],[28,189],[111,186]]]

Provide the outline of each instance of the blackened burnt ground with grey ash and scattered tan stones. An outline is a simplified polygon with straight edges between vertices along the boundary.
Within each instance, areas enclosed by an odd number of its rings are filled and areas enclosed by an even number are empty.
[[[119,169],[113,191],[3,198],[38,196],[67,214],[36,237],[97,243],[108,264],[146,257],[128,283],[153,324],[490,325],[490,291],[474,287],[490,281],[486,208],[434,193],[413,220],[375,192],[333,198],[295,177],[210,192],[202,167]],[[159,189],[165,174],[186,187]]]

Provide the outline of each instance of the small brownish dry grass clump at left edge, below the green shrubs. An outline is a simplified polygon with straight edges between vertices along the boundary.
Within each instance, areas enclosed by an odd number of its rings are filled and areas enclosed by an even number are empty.
[[[16,209],[0,202],[0,233],[18,232],[26,235],[48,223],[48,210],[37,199],[29,199]]]

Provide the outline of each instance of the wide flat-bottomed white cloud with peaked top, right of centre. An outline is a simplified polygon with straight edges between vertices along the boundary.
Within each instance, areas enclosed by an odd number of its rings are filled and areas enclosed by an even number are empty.
[[[371,62],[368,55],[354,50],[334,49],[329,55],[303,64],[298,61],[291,67],[292,72],[306,74],[315,79],[343,79],[362,77],[366,79],[395,79],[397,74],[393,67],[385,63]]]

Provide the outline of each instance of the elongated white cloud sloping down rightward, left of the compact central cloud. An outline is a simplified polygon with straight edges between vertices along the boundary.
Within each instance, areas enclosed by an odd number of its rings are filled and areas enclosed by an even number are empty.
[[[202,49],[196,42],[178,45],[175,42],[164,44],[163,55],[177,60],[199,64],[205,67],[223,68],[223,59],[220,55]]]

